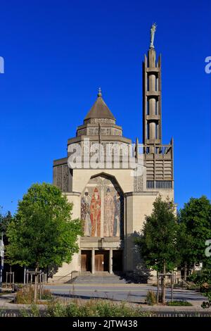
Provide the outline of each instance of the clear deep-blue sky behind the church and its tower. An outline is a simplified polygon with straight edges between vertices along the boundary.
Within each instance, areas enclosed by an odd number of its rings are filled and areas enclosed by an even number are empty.
[[[148,8],[148,4],[149,8]],[[210,197],[210,1],[1,0],[0,206],[15,211],[96,99],[142,139],[141,63],[151,24],[162,53],[162,138],[174,137],[175,201]]]

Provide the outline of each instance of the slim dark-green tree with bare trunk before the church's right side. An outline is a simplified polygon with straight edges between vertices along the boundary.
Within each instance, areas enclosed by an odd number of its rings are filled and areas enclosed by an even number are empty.
[[[158,196],[153,203],[153,212],[146,216],[141,237],[136,239],[146,266],[158,273],[165,274],[177,265],[177,220],[174,209],[173,201],[162,201]],[[162,303],[165,303],[165,277],[162,282]]]

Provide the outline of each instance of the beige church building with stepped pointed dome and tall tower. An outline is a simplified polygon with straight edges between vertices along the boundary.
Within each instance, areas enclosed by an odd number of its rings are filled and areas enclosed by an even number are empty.
[[[162,144],[161,58],[151,43],[143,61],[143,143],[122,135],[99,89],[97,99],[68,139],[68,155],[53,161],[53,184],[84,223],[79,253],[53,280],[80,274],[133,273],[140,256],[134,237],[158,194],[174,199],[173,139]]]

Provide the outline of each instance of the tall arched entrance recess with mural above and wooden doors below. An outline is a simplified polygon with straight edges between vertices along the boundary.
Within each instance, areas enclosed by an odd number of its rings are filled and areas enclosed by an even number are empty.
[[[124,194],[114,177],[101,174],[90,178],[81,195],[81,218],[81,270],[122,271]]]

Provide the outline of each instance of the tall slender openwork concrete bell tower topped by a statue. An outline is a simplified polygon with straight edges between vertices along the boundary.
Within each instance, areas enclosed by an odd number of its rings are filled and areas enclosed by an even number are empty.
[[[156,60],[156,25],[151,27],[151,44],[143,61],[143,155],[147,189],[174,189],[173,138],[162,144],[161,56]]]

